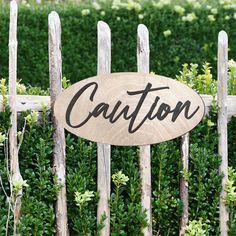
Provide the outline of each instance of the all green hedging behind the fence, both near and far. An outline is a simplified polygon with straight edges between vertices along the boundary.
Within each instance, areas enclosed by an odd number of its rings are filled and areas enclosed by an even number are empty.
[[[158,3],[162,3],[158,5]],[[232,27],[235,22],[234,8],[228,4],[201,7],[188,3],[183,5],[181,15],[175,5],[145,3],[119,5],[112,9],[112,3],[94,5],[44,5],[20,6],[18,20],[18,77],[30,84],[21,92],[42,94],[48,92],[33,86],[48,88],[47,15],[56,9],[62,21],[63,75],[72,82],[96,74],[96,24],[106,21],[112,30],[112,71],[136,71],[136,28],[144,23],[150,30],[151,70],[175,77],[187,83],[199,93],[215,95],[216,92],[216,44],[217,34],[222,28],[230,39],[235,38]],[[190,1],[189,1],[190,2]],[[224,2],[224,1],[223,1]],[[232,1],[233,2],[233,1]],[[86,10],[86,11],[84,11]],[[89,11],[87,11],[89,10]],[[89,13],[88,13],[89,12]],[[183,21],[188,13],[195,12],[197,19]],[[214,15],[215,21],[208,16]],[[193,17],[194,18],[194,17]],[[228,19],[229,18],[229,19]],[[7,35],[9,10],[0,8],[0,64],[2,77],[7,77]],[[170,32],[169,32],[169,31]],[[166,32],[167,31],[167,32]],[[230,41],[230,58],[235,57],[236,46]],[[198,68],[185,62],[211,62]],[[179,71],[182,70],[181,73]],[[213,75],[212,75],[213,74]],[[236,94],[236,65],[229,72],[231,94]],[[1,90],[2,91],[2,90]],[[180,162],[180,140],[152,146],[152,198],[154,235],[178,235],[182,202],[179,197],[179,180],[183,175],[189,180],[189,235],[193,228],[202,226],[203,235],[219,235],[219,192],[221,176],[218,175],[220,157],[217,155],[216,107],[208,117],[190,134],[189,172],[183,172]],[[19,117],[19,130],[24,127],[32,112]],[[9,110],[0,113],[0,132],[7,135]],[[229,163],[236,168],[236,118],[229,123]],[[22,199],[22,217],[18,227],[22,235],[54,235],[55,216],[53,206],[59,188],[52,173],[52,134],[50,111],[44,110],[38,122],[27,122],[20,149],[20,167],[24,180],[29,185]],[[7,140],[6,140],[7,142]],[[96,145],[66,134],[67,152],[67,197],[68,217],[71,235],[97,235],[96,204]],[[121,187],[112,182],[111,235],[142,235],[146,225],[145,214],[140,205],[140,178],[138,170],[138,149],[112,147],[112,174],[122,171],[129,180]],[[7,222],[7,198],[9,194],[6,165],[6,148],[0,145],[0,174],[3,186],[0,188],[0,235],[5,234]],[[230,209],[230,235],[236,232],[236,175],[232,175],[232,187],[228,188],[227,205]],[[75,193],[93,191],[94,196],[83,207],[75,201]],[[118,196],[118,197],[117,197]],[[9,232],[12,232],[10,214]],[[200,236],[200,235],[198,235]]]

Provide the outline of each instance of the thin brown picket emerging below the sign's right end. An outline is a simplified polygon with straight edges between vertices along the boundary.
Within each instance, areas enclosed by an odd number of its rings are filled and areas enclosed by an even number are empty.
[[[189,133],[181,137],[181,161],[183,171],[188,172],[188,162],[189,162]],[[183,202],[183,211],[180,219],[180,231],[179,235],[185,235],[185,228],[188,224],[188,181],[184,176],[180,179],[180,199]]]

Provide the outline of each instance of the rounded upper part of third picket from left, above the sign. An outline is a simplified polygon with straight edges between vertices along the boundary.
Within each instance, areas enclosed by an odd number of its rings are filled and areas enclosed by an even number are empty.
[[[111,72],[111,30],[107,23],[99,21],[98,32],[98,67],[97,74]]]

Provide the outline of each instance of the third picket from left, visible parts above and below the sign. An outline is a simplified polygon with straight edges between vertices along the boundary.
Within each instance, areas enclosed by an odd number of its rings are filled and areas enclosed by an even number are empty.
[[[111,31],[109,26],[99,21],[98,31],[98,65],[97,74],[108,74],[111,72]],[[101,231],[102,236],[110,235],[110,208],[109,199],[111,192],[111,146],[108,144],[97,144],[97,189],[99,202],[97,208],[97,223],[101,222],[102,215],[106,214],[105,227]]]

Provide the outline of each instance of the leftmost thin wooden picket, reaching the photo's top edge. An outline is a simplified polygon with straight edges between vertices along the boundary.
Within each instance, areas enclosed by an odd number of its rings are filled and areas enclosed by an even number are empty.
[[[11,109],[11,128],[9,131],[9,154],[12,184],[21,182],[18,147],[17,147],[17,111],[16,111],[16,80],[17,80],[17,13],[18,7],[15,0],[10,3],[10,28],[9,28],[9,106]],[[14,193],[14,235],[17,235],[17,224],[20,218],[22,189]]]

